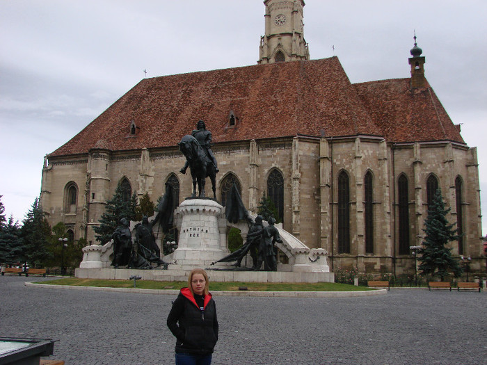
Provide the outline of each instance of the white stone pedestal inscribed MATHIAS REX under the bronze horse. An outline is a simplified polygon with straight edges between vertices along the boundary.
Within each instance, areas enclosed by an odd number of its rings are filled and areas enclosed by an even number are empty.
[[[227,222],[223,206],[214,200],[184,200],[176,209],[179,241],[173,253],[175,265],[169,270],[208,267],[229,251],[225,234]]]

